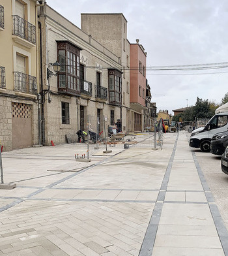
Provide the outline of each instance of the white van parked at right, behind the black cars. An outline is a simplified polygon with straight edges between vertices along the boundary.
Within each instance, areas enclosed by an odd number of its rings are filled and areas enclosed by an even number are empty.
[[[192,131],[189,146],[200,148],[203,152],[210,152],[210,140],[216,133],[228,131],[228,103],[216,109],[216,114],[205,127]]]

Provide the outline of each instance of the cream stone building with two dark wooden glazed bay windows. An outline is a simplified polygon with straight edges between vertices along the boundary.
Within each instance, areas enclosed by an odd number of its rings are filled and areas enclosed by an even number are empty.
[[[42,144],[65,143],[66,135],[76,140],[76,132],[86,131],[88,123],[99,133],[105,123],[107,133],[122,111],[120,58],[48,5],[40,7],[38,22]],[[53,72],[55,61],[61,70],[48,79],[47,69]]]

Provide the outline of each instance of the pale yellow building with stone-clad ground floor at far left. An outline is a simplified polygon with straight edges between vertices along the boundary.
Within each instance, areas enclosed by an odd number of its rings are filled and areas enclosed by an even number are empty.
[[[36,1],[0,0],[0,140],[4,151],[38,144]]]

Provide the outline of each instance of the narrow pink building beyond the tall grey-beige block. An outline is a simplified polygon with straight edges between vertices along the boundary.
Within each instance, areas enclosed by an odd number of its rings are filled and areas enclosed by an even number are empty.
[[[136,40],[130,44],[130,108],[132,109],[132,131],[144,130],[144,110],[147,92],[147,53]]]

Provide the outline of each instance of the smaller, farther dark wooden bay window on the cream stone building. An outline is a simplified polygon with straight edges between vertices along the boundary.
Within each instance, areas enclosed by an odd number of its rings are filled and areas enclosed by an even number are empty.
[[[122,104],[122,78],[117,70],[109,70],[109,103]]]

